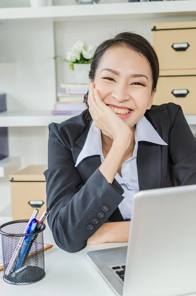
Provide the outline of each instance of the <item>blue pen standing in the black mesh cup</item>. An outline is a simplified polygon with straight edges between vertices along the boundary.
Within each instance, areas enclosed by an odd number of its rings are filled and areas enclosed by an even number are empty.
[[[27,229],[27,233],[32,233],[32,232],[34,232],[35,229],[36,229],[36,225],[37,225],[37,220],[36,220],[36,219],[33,219],[33,220],[31,221],[31,223],[30,223],[28,229]],[[31,239],[32,239],[32,236],[31,236],[31,235],[29,235],[29,236],[25,236],[25,238],[24,238],[23,245],[22,245],[22,248],[21,248],[21,251],[20,251],[20,256],[19,256],[18,262],[17,262],[17,264],[16,264],[16,270],[17,270],[18,268],[20,268],[21,265],[22,265],[22,261],[23,261],[25,255],[26,255],[26,253],[27,253],[27,249],[28,249],[28,247],[29,247],[29,244],[30,244],[30,242],[31,242]]]

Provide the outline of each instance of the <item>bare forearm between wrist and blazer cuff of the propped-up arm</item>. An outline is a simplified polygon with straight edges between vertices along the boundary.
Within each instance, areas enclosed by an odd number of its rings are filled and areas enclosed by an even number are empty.
[[[117,143],[118,142],[113,142],[110,151],[108,152],[106,158],[99,167],[99,170],[102,173],[102,175],[106,178],[108,183],[111,184],[114,181],[120,162],[122,161],[124,153],[126,152],[125,145]]]

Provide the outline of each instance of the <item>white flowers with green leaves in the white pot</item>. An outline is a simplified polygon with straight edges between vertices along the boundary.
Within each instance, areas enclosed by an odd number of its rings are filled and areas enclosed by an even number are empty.
[[[69,63],[69,68],[74,71],[74,64],[90,64],[94,55],[95,47],[88,45],[85,41],[77,40],[65,57],[59,60]],[[57,56],[54,57],[56,59]]]

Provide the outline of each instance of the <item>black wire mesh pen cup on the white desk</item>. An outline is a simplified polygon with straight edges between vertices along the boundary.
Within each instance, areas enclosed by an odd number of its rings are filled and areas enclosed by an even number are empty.
[[[27,285],[45,276],[43,223],[38,231],[25,234],[28,220],[7,222],[0,226],[2,237],[3,280],[13,285]],[[26,252],[24,246],[26,243]]]

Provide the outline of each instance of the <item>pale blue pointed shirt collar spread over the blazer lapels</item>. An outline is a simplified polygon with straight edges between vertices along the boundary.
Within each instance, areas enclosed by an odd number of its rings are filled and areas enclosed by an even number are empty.
[[[139,141],[167,145],[144,115],[136,124],[135,143],[138,143]],[[84,146],[78,155],[75,167],[77,167],[84,158],[92,155],[103,155],[101,131],[94,125],[94,121],[92,121]]]

